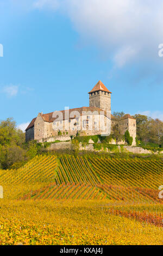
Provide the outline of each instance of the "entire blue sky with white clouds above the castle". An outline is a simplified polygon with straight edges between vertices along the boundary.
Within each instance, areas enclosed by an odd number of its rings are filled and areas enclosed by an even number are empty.
[[[123,3],[122,3],[123,2]],[[89,105],[101,80],[111,108],[163,120],[162,2],[0,0],[0,119]]]

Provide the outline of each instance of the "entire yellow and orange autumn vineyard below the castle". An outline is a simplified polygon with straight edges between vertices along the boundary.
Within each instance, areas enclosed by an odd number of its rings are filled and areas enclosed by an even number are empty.
[[[0,245],[163,244],[161,159],[40,155],[0,185]]]

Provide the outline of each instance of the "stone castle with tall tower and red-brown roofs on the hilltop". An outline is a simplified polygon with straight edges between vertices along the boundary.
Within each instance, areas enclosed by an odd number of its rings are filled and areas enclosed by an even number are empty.
[[[117,120],[111,114],[111,92],[99,81],[89,92],[89,107],[80,107],[48,114],[42,112],[34,118],[26,129],[26,141],[54,142],[66,141],[76,135],[109,136]],[[118,120],[120,133],[129,131],[136,145],[136,120],[125,114]]]

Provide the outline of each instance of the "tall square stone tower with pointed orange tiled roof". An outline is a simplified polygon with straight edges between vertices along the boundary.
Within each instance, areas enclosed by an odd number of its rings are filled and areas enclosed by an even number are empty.
[[[89,92],[90,107],[98,107],[104,111],[111,112],[111,92],[98,81],[95,87]]]

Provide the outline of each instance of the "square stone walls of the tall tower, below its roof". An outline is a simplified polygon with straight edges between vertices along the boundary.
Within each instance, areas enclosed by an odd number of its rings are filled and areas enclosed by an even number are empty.
[[[103,91],[89,94],[90,107],[98,107],[105,111],[111,111],[111,93]]]

